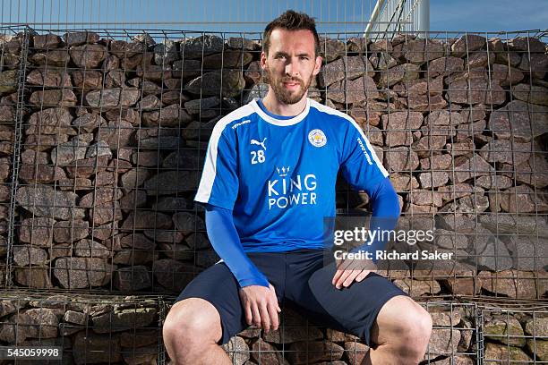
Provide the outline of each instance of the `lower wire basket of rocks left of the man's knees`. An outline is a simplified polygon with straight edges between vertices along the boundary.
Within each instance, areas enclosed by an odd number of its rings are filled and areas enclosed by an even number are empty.
[[[0,343],[61,347],[61,360],[41,363],[165,361],[161,334],[165,303],[161,297],[32,291],[4,291],[0,296]]]

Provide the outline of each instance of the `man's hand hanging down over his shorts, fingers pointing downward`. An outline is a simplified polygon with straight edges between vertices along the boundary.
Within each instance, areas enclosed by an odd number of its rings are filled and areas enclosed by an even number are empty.
[[[240,289],[240,299],[244,307],[245,321],[249,326],[253,324],[263,328],[267,334],[270,327],[274,331],[278,329],[278,312],[281,309],[272,284],[269,284],[269,288],[261,285],[244,286]]]

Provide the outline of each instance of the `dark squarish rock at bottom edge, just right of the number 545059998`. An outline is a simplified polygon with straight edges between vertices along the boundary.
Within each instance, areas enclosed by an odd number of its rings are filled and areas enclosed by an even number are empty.
[[[73,358],[76,365],[122,361],[120,337],[81,331],[74,336]]]

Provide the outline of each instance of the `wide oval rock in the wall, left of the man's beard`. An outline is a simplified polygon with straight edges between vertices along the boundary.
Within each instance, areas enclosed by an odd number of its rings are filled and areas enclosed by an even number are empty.
[[[244,89],[244,86],[245,81],[242,72],[236,70],[223,70],[222,72],[204,72],[201,76],[186,83],[184,89],[192,94],[201,95],[202,97],[219,95],[224,97],[236,97]]]

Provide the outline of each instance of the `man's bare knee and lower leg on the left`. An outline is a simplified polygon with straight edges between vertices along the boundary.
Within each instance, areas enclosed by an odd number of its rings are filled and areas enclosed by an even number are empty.
[[[164,344],[174,365],[231,364],[217,344],[222,335],[218,310],[201,298],[178,301],[163,327]]]

